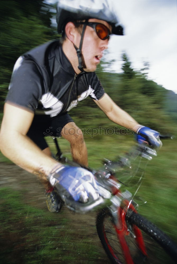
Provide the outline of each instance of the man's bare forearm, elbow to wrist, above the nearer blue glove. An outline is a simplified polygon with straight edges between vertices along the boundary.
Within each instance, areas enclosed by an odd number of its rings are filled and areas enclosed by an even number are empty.
[[[55,159],[48,157],[26,135],[18,132],[1,133],[1,152],[21,168],[37,175],[41,181],[47,181],[47,175],[59,165]]]

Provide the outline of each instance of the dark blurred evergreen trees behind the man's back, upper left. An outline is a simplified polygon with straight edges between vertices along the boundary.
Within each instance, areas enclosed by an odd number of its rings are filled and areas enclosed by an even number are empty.
[[[41,0],[1,1],[0,108],[7,94],[13,65],[26,51],[56,38],[50,5]]]

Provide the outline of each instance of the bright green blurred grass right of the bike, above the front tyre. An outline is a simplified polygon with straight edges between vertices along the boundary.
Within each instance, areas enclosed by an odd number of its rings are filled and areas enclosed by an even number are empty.
[[[147,167],[140,194],[148,203],[140,209],[177,242],[177,154],[176,140],[165,141]]]

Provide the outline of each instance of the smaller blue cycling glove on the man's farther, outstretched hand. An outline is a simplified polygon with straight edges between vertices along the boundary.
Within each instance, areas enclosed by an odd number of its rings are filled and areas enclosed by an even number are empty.
[[[137,130],[136,139],[140,144],[146,141],[150,146],[153,146],[154,148],[161,148],[162,142],[159,138],[159,135],[160,133],[158,133],[157,131],[148,128],[147,126],[141,126]]]

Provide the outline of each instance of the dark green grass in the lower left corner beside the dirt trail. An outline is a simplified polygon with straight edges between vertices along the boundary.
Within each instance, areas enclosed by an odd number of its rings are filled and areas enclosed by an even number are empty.
[[[98,249],[84,230],[78,238],[69,218],[26,205],[24,193],[0,189],[1,263],[95,263]]]

